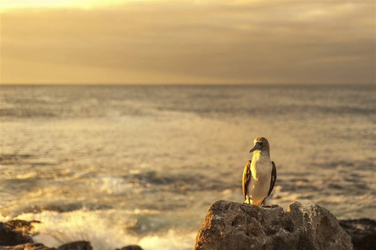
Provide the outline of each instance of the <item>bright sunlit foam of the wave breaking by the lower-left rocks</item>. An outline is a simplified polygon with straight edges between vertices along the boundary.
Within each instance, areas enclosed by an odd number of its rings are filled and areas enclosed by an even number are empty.
[[[127,214],[157,213],[149,210],[115,211],[115,210],[81,210],[58,213],[42,211],[41,213],[24,213],[11,218],[1,216],[1,221],[11,219],[39,220],[34,223],[34,241],[49,247],[58,247],[72,241],[90,241],[94,250],[113,250],[128,245],[139,245],[146,250],[156,249],[191,249],[197,232],[182,232],[169,229],[159,234],[135,236],[127,232],[135,221],[126,218]]]

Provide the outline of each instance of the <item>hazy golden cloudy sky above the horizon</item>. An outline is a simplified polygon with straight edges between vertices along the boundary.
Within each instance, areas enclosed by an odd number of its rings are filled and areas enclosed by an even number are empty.
[[[376,1],[0,1],[1,84],[375,84]]]

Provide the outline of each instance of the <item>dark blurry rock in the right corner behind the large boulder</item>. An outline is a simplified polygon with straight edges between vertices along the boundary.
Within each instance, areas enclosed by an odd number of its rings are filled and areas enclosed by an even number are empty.
[[[340,226],[351,237],[355,250],[376,247],[376,221],[370,219],[340,220]]]

